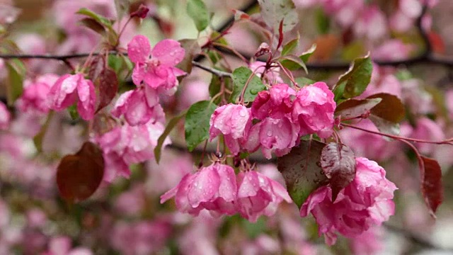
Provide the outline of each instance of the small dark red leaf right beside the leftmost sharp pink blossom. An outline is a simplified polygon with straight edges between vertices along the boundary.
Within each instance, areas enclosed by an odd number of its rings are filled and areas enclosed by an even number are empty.
[[[98,111],[108,106],[115,98],[118,91],[118,78],[113,69],[105,68],[98,77],[99,80],[99,105]]]

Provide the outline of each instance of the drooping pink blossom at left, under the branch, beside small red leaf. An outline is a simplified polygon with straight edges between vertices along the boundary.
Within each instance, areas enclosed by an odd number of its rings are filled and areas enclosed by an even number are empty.
[[[77,101],[77,111],[84,120],[94,116],[96,92],[93,82],[84,79],[83,74],[64,74],[50,88],[49,106],[62,111]]]

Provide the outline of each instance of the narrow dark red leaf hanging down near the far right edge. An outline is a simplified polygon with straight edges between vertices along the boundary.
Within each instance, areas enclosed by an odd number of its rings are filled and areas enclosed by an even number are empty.
[[[437,207],[444,200],[444,191],[442,187],[442,171],[439,163],[435,159],[423,157],[424,167],[420,169],[420,177],[422,179],[422,194],[425,198],[425,203],[430,208],[430,214],[435,217]]]

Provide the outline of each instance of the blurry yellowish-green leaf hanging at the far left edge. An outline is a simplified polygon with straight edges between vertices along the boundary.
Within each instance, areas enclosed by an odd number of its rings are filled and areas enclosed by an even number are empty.
[[[23,77],[25,76],[25,66],[20,60],[11,60],[6,62],[8,69],[8,79],[6,82],[6,91],[8,106],[13,106],[16,99],[23,92]]]

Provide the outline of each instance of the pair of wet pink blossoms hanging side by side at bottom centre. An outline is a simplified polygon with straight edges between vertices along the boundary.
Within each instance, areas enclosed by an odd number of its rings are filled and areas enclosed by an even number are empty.
[[[198,215],[209,210],[214,215],[241,216],[256,222],[260,215],[273,215],[277,206],[292,200],[277,181],[256,171],[234,174],[234,169],[218,162],[186,174],[178,186],[161,196],[161,203],[175,197],[180,212]]]

